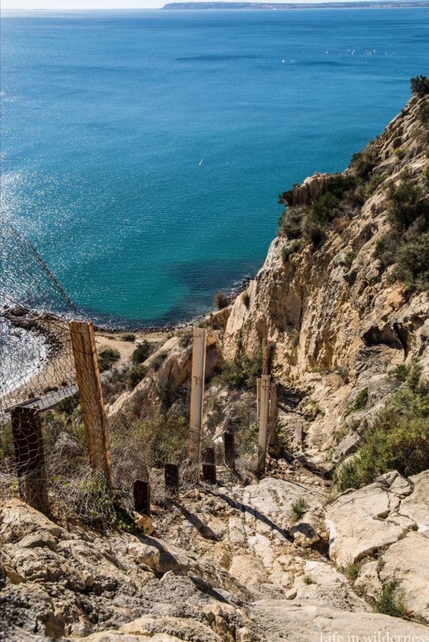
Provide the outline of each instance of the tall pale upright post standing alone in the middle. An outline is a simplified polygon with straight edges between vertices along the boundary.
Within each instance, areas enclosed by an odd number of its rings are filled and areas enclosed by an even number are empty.
[[[203,421],[204,376],[206,365],[206,331],[194,327],[192,346],[192,377],[190,388],[190,430],[188,456],[191,462],[199,465],[201,442],[201,423]]]

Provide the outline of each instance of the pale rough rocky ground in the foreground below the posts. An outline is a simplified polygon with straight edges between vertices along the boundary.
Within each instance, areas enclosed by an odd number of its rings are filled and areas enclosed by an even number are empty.
[[[188,487],[153,506],[155,530],[145,536],[66,530],[13,499],[1,514],[0,605],[11,624],[4,639],[428,634],[424,625],[374,614],[372,600],[380,577],[403,577],[415,614],[425,611],[428,474],[410,481],[389,474],[328,506],[319,476],[282,461],[275,474],[243,485],[220,469],[217,485]],[[305,500],[298,515],[297,499]],[[407,554],[392,555],[395,546]],[[335,560],[344,570],[354,559],[364,564],[351,580]]]

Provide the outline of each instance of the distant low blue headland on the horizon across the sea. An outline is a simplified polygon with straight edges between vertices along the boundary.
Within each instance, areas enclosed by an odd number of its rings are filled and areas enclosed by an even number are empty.
[[[172,2],[162,9],[380,9],[398,7],[429,7],[429,2],[325,2],[325,3],[267,3],[267,2]]]

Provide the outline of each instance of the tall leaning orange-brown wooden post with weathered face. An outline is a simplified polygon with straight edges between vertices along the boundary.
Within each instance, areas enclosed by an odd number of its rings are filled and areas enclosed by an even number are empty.
[[[89,462],[94,473],[103,474],[112,488],[108,429],[101,391],[96,338],[92,322],[69,323],[83,424],[87,435]]]

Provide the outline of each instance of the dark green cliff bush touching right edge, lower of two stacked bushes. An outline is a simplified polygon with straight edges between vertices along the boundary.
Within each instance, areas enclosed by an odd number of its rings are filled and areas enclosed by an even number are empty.
[[[402,281],[410,290],[429,289],[429,232],[411,236],[398,249],[389,281]]]

